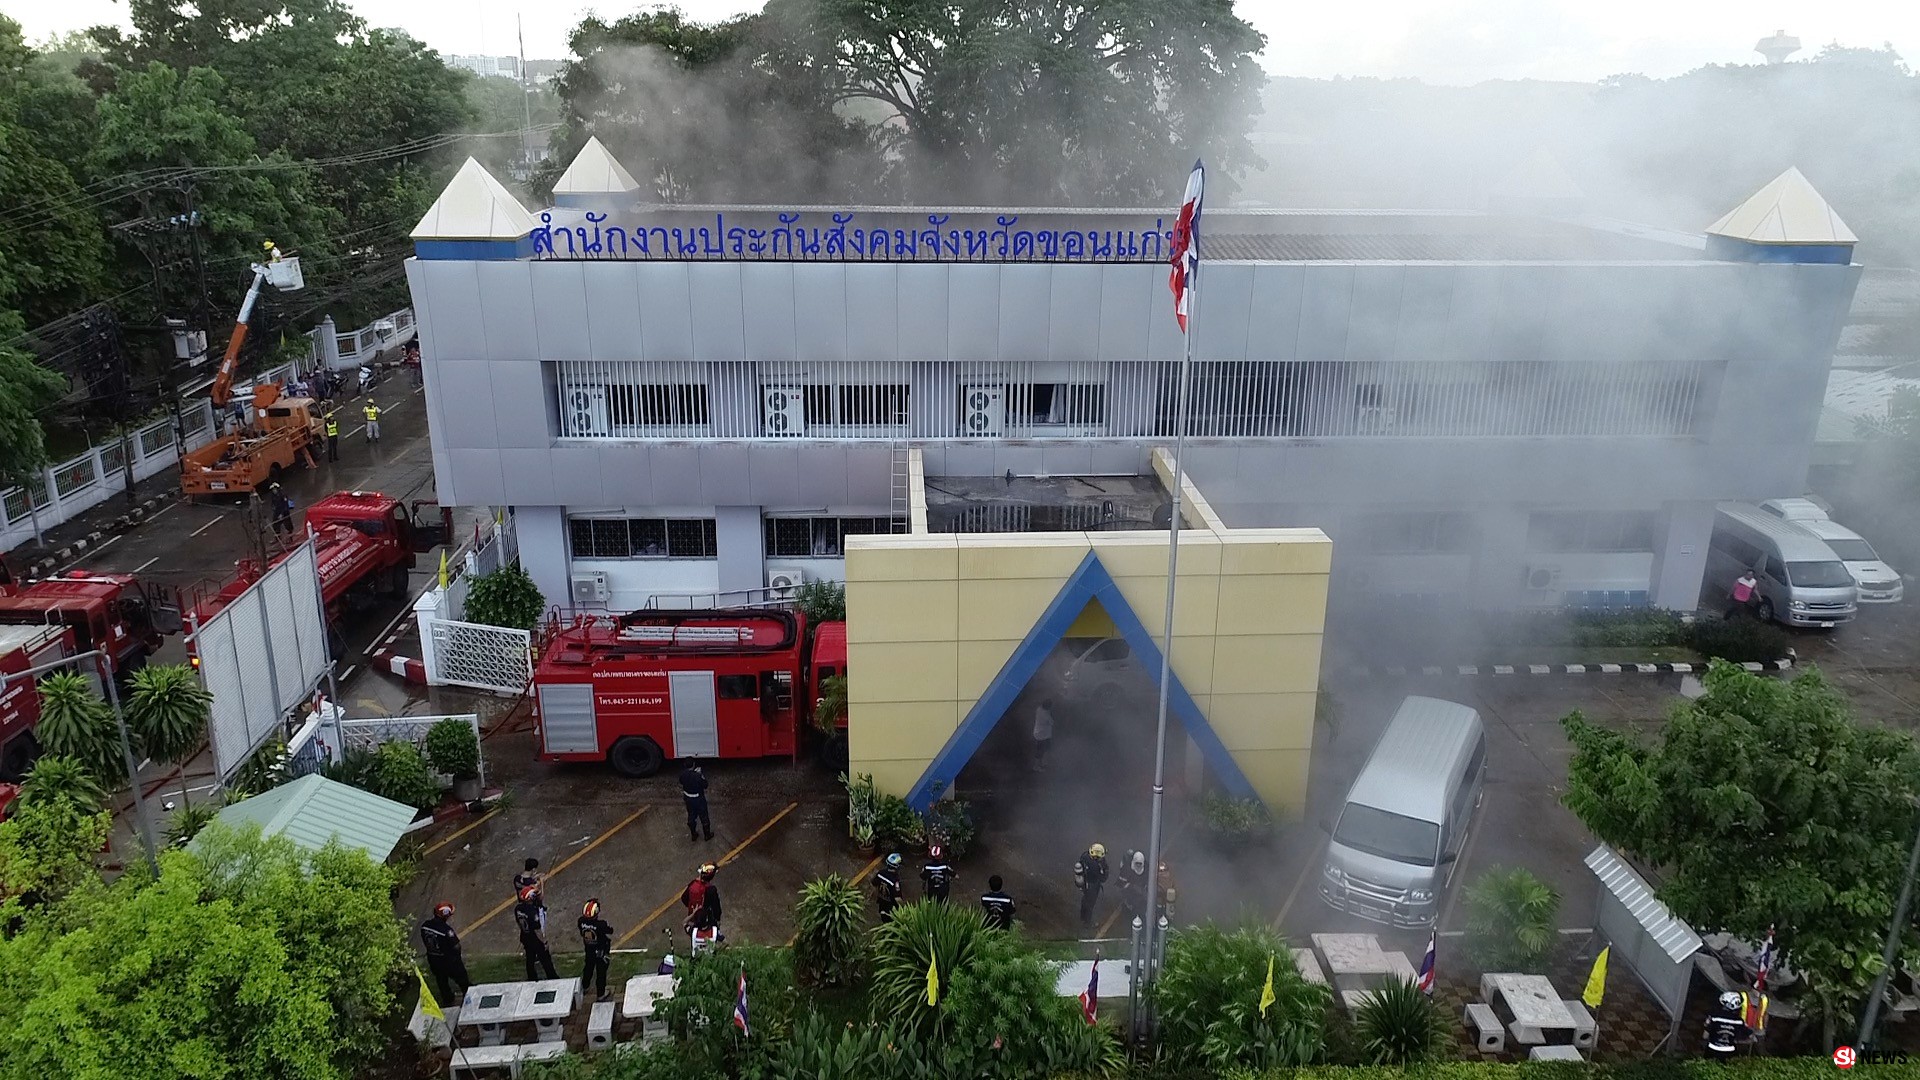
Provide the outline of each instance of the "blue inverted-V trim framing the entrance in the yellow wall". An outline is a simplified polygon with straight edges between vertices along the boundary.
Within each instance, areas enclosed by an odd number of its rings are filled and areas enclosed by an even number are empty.
[[[1046,663],[1046,653],[1066,638],[1073,621],[1079,613],[1087,609],[1087,603],[1100,601],[1100,607],[1114,621],[1114,628],[1119,636],[1127,640],[1133,648],[1133,655],[1140,659],[1146,667],[1148,680],[1160,686],[1160,646],[1154,644],[1152,634],[1140,625],[1140,617],[1133,613],[1133,605],[1121,596],[1119,586],[1114,582],[1114,575],[1100,565],[1100,557],[1087,552],[1081,565],[1073,569],[1066,584],[1054,596],[1046,611],[1033,623],[1027,630],[1025,640],[1014,648],[1014,655],[1006,657],[1000,665],[1000,673],[993,676],[987,684],[987,692],[979,696],[973,709],[968,711],[960,726],[947,740],[933,761],[927,765],[920,780],[914,782],[912,790],[906,794],[908,805],[916,811],[925,813],[937,798],[954,782],[960,769],[979,751],[981,744],[987,742],[987,734],[993,726],[1000,723],[1000,717],[1014,705],[1020,692],[1027,682],[1039,675],[1041,665]],[[1167,688],[1167,711],[1181,721],[1187,736],[1194,740],[1200,748],[1200,755],[1213,769],[1219,782],[1235,796],[1246,799],[1258,799],[1254,784],[1246,780],[1240,773],[1240,765],[1235,763],[1233,753],[1227,746],[1219,742],[1213,734],[1213,726],[1206,723],[1200,715],[1200,705],[1194,703],[1187,688],[1181,686],[1179,676],[1173,676],[1173,684]]]

